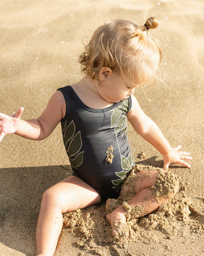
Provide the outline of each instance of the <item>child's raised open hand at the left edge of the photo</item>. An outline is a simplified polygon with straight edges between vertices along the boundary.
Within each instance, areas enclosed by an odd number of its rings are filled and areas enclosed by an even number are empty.
[[[23,107],[20,107],[12,116],[0,113],[0,142],[6,134],[14,133],[18,129],[22,113]]]

